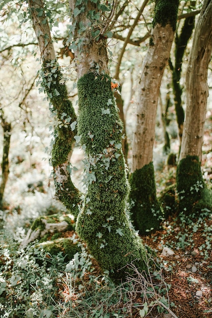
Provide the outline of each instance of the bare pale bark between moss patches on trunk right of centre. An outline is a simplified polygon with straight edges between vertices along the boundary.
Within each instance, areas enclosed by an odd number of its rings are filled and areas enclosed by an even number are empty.
[[[141,169],[153,161],[155,124],[159,88],[167,64],[174,31],[170,24],[162,27],[156,24],[144,59],[140,78],[137,121],[133,136],[132,171]]]

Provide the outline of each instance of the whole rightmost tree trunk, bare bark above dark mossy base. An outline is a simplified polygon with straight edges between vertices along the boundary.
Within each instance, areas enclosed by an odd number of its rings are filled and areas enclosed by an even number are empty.
[[[212,194],[201,174],[202,142],[207,107],[207,69],[212,52],[212,1],[205,0],[195,29],[186,76],[187,108],[176,185],[179,212],[192,215],[211,209]]]

